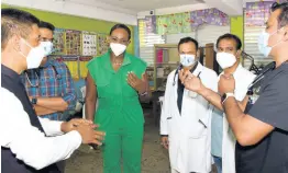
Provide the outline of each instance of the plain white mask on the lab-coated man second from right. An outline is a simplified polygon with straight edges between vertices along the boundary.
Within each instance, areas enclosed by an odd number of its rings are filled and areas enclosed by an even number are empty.
[[[217,61],[222,69],[226,69],[236,62],[236,57],[229,53],[217,53]]]

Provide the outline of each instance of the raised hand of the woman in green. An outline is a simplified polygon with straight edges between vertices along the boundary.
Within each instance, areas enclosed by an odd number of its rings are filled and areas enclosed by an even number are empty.
[[[142,74],[142,79],[139,79],[134,72],[128,72],[128,83],[139,93],[144,93],[146,91],[146,81],[147,77],[145,73]]]

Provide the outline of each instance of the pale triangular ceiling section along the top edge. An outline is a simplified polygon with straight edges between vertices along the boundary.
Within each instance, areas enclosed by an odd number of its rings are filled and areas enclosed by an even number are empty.
[[[113,11],[125,13],[137,13],[141,11],[148,11],[162,8],[171,8],[186,4],[203,3],[203,0],[56,0],[75,2],[80,4],[89,4],[103,9],[111,9]]]

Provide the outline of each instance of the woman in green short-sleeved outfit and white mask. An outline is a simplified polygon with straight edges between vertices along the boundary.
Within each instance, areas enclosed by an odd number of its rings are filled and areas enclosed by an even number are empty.
[[[144,117],[139,95],[146,95],[146,64],[125,51],[131,31],[114,25],[110,49],[88,64],[86,115],[106,131],[101,147],[104,173],[141,172]],[[96,101],[98,108],[96,112]]]

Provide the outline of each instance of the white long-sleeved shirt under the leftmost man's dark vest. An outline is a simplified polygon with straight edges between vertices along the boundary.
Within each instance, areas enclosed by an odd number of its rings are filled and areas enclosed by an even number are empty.
[[[1,69],[1,72],[3,72],[3,69]],[[5,73],[9,73],[15,81],[20,80],[19,74],[8,68],[5,68]],[[80,146],[81,136],[79,132],[70,131],[63,135],[60,131],[62,122],[40,118],[47,136],[62,135],[53,138],[45,137],[45,134],[41,132],[37,127],[32,126],[30,116],[12,92],[1,86],[0,94],[1,147],[10,148],[16,159],[40,170],[69,158]]]

